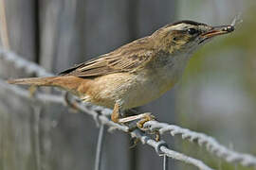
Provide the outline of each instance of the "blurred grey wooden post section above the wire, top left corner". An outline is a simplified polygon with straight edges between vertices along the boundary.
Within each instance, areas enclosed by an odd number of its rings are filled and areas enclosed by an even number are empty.
[[[4,0],[9,46],[12,51],[29,60],[36,60],[34,0]],[[4,22],[4,21],[2,21]]]

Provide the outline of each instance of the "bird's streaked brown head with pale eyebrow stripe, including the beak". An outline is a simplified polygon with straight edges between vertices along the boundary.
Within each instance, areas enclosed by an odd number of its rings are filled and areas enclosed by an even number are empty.
[[[191,53],[201,44],[233,30],[234,26],[208,26],[193,21],[180,21],[161,27],[151,37],[160,50]]]

